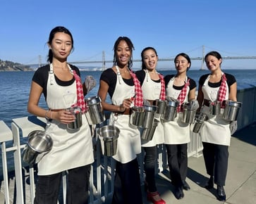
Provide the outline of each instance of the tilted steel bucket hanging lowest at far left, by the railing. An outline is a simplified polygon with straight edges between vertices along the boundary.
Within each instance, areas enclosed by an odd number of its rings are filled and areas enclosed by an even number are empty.
[[[23,149],[23,161],[28,164],[34,164],[37,155],[47,153],[51,150],[53,141],[51,136],[45,134],[44,131],[35,130],[28,134],[28,141]]]

